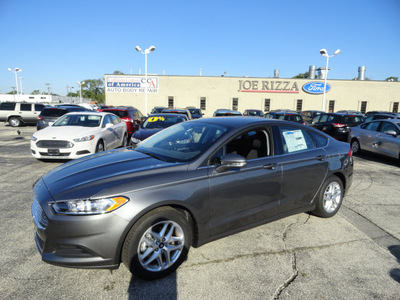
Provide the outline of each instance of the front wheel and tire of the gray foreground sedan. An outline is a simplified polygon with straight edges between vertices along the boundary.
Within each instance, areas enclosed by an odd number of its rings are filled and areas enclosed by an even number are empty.
[[[174,272],[186,259],[192,243],[189,217],[161,207],[142,216],[130,229],[122,261],[133,275],[155,280]]]

